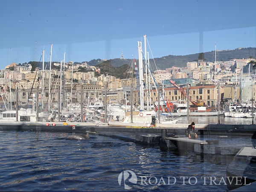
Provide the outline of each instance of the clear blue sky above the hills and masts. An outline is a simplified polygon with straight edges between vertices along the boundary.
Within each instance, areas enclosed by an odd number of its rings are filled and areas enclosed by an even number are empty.
[[[255,0],[1,0],[0,69],[12,62],[150,58],[256,47]],[[144,45],[144,43],[143,43]],[[147,48],[147,51],[150,51]],[[255,55],[252,55],[255,56]],[[221,59],[221,58],[220,58]],[[42,59],[41,59],[42,60]]]

